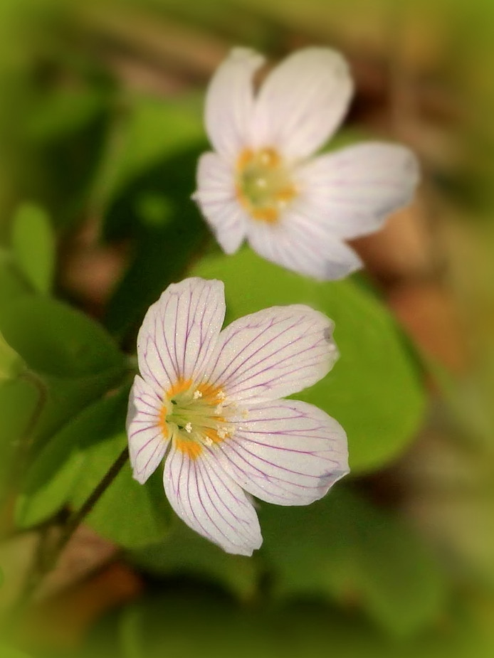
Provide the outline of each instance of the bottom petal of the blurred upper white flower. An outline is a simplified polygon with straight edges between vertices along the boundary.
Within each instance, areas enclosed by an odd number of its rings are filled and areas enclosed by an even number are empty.
[[[362,267],[352,248],[295,208],[275,225],[251,222],[248,243],[266,260],[317,280],[342,279]]]

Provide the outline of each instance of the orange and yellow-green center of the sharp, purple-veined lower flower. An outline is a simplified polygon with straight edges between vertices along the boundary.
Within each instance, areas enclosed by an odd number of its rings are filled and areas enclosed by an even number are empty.
[[[179,379],[164,394],[159,415],[163,437],[196,459],[204,446],[216,445],[233,432],[224,418],[224,401],[225,394],[217,386],[196,386],[190,379]]]

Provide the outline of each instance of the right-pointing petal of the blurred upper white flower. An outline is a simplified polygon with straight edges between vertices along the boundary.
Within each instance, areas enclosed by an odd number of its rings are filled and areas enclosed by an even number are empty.
[[[381,228],[410,203],[419,182],[414,154],[395,144],[357,144],[298,167],[302,189],[294,209],[339,238]]]

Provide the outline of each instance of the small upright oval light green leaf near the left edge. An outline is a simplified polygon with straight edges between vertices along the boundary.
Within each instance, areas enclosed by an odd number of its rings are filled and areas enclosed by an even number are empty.
[[[35,290],[51,290],[55,269],[55,238],[45,211],[23,203],[14,216],[12,250],[19,267]]]

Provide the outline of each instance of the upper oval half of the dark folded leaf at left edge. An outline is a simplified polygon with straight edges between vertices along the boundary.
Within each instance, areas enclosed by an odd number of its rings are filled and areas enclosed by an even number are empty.
[[[28,367],[40,373],[83,377],[125,365],[103,327],[54,299],[12,302],[1,314],[0,330]]]

